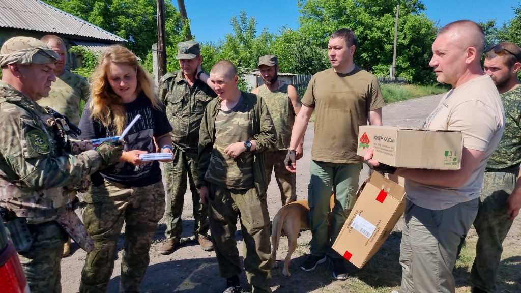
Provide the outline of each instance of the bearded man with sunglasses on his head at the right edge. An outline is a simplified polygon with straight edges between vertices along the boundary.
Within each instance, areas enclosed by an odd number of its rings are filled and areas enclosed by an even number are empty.
[[[501,94],[505,108],[505,130],[498,148],[489,158],[480,192],[474,227],[478,234],[476,259],[470,280],[473,292],[495,292],[495,277],[503,251],[502,243],[521,207],[521,50],[510,42],[487,47],[485,72]]]

